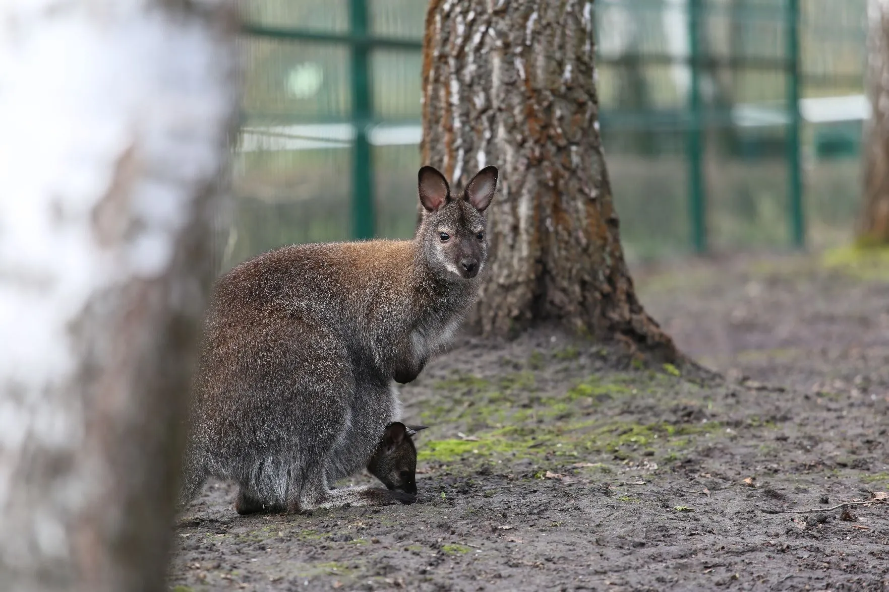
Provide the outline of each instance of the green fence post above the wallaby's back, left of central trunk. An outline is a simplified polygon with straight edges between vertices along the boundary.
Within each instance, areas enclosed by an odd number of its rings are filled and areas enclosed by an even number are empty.
[[[366,0],[350,0],[349,25],[353,37],[368,34]],[[352,236],[372,238],[375,229],[373,215],[373,169],[371,145],[367,128],[372,121],[370,48],[352,42],[352,121],[355,125],[355,144],[352,148]]]

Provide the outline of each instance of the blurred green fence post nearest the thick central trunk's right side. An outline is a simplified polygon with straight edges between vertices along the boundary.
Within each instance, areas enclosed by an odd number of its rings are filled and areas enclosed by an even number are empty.
[[[688,0],[690,122],[685,140],[688,160],[689,216],[692,244],[696,252],[707,251],[707,196],[704,189],[703,133],[701,123],[701,0]]]

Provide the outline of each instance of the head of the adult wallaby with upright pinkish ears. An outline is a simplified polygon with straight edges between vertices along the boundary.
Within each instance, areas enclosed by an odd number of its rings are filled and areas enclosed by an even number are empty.
[[[452,281],[472,279],[488,256],[483,212],[497,188],[497,168],[477,172],[459,197],[451,196],[445,176],[431,166],[422,167],[418,177],[425,212],[417,233],[429,266]]]

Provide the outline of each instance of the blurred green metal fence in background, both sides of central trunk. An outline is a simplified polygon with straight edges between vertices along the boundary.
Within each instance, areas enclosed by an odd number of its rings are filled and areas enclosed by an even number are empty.
[[[865,0],[596,0],[601,132],[631,258],[851,230]],[[411,236],[419,0],[250,0],[226,264]],[[804,191],[805,188],[805,191]]]

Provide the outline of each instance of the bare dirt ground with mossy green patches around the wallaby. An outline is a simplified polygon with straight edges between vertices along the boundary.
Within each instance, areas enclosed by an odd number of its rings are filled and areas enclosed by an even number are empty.
[[[834,260],[635,270],[722,383],[617,367],[560,332],[463,339],[402,389],[430,426],[419,503],[241,517],[232,486],[207,484],[170,586],[887,589],[889,261]]]

